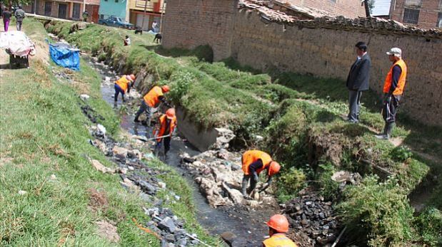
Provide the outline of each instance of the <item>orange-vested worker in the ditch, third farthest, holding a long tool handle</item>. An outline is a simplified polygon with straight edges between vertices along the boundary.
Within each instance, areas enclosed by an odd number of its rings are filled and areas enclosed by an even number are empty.
[[[161,142],[164,143],[164,156],[171,149],[171,139],[176,127],[176,115],[175,109],[170,108],[166,110],[166,114],[160,117],[159,128],[155,130],[154,135],[158,137],[156,139],[156,149],[161,148]]]

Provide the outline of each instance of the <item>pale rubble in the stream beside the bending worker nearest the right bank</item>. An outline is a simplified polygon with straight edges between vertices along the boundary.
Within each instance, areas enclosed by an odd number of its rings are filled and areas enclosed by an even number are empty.
[[[275,204],[273,197],[265,192],[255,192],[251,200],[243,199],[241,154],[227,150],[228,142],[235,135],[225,128],[216,130],[219,136],[209,151],[194,157],[190,157],[187,153],[181,154],[181,167],[187,169],[194,177],[209,204],[214,208],[242,204],[257,208],[266,204]]]

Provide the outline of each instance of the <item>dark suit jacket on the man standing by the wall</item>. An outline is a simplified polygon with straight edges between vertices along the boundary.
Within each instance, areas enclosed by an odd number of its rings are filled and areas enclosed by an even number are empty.
[[[348,90],[368,90],[370,70],[371,59],[370,56],[368,56],[368,53],[366,53],[366,55],[362,56],[359,61],[356,61],[351,65],[346,84]]]

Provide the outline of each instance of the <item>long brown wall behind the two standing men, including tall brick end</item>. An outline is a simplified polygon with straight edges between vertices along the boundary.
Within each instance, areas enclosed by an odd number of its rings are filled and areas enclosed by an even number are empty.
[[[238,11],[231,4],[226,0],[170,0],[163,45],[194,48],[209,44],[215,60],[232,56],[260,70],[278,68],[346,80],[356,59],[354,45],[366,41],[373,63],[371,88],[378,93],[391,66],[385,52],[397,46],[408,64],[401,111],[421,122],[442,125],[442,39],[369,28],[351,31],[265,24],[256,11]],[[346,90],[344,85],[336,86]]]

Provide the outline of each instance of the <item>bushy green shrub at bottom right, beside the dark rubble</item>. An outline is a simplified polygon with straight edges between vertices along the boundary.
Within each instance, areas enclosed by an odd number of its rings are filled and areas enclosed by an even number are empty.
[[[366,177],[344,196],[338,212],[345,224],[365,229],[369,246],[404,246],[413,238],[413,209],[397,179],[378,183],[376,175]]]

